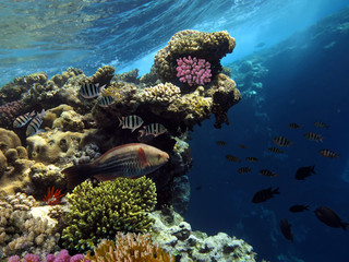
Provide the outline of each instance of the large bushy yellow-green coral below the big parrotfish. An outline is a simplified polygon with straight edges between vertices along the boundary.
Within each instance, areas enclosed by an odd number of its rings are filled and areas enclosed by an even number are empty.
[[[115,239],[118,231],[147,233],[154,223],[148,213],[156,204],[152,179],[117,178],[93,187],[85,181],[68,195],[71,209],[63,245],[79,252],[92,249],[99,239]]]

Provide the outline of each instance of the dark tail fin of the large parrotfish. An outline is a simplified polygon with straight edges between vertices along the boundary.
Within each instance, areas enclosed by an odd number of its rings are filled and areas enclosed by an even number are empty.
[[[67,178],[68,189],[73,189],[74,187],[93,176],[92,167],[89,164],[81,164],[68,167],[64,170],[62,170],[62,174],[64,174]]]

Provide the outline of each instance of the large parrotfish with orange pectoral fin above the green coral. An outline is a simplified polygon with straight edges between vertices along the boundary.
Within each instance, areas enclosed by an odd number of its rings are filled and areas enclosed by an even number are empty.
[[[135,178],[155,171],[169,159],[169,155],[154,146],[131,143],[116,146],[94,162],[68,167],[62,172],[72,189],[87,178],[112,180],[117,177]]]

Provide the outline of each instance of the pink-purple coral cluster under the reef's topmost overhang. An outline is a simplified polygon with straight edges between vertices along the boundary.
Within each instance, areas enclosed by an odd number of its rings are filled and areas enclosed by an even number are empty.
[[[204,85],[210,82],[210,63],[205,59],[189,56],[177,59],[177,78],[182,83]]]

